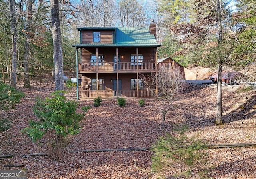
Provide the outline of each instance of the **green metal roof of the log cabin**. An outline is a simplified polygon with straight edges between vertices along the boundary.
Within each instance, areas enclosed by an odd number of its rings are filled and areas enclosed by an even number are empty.
[[[73,47],[160,47],[149,28],[78,28],[78,30],[112,30],[113,43],[74,44]]]

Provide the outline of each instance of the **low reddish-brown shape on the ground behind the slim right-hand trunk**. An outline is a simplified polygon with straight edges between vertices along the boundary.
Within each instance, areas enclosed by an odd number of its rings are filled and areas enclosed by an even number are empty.
[[[212,82],[216,83],[218,74],[211,76]],[[240,84],[242,81],[246,81],[247,76],[237,71],[224,71],[221,74],[221,81],[223,84]]]

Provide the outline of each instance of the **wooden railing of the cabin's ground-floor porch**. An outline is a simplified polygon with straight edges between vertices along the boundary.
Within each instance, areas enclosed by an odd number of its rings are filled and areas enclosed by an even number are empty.
[[[138,97],[154,97],[151,91],[139,90]],[[137,97],[137,90],[119,90],[117,95],[117,90],[80,90],[79,94],[82,98],[96,98],[101,96],[102,98],[112,98],[112,97]]]

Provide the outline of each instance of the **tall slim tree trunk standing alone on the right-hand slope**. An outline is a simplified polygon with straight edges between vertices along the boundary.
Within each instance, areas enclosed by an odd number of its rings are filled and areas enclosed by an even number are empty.
[[[218,82],[217,82],[217,104],[216,104],[216,119],[217,125],[223,124],[222,121],[222,91],[221,91],[221,72],[222,72],[222,55],[220,54],[220,44],[222,42],[222,17],[220,10],[220,0],[216,0],[216,12],[218,23]]]

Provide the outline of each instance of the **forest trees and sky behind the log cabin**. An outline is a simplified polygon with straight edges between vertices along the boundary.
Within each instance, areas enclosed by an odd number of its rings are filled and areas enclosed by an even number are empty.
[[[0,0],[1,77],[10,81],[11,70],[18,78],[26,73],[42,77],[54,69],[50,1],[15,0],[14,14],[7,0]],[[62,0],[59,1],[64,70],[76,69],[78,27],[147,27],[157,24],[158,58],[171,56],[187,67],[215,68],[216,55],[223,64],[241,69],[255,62],[256,2],[221,1],[223,40],[218,46],[214,1],[200,0]],[[11,23],[17,33],[17,66],[12,66]],[[220,50],[221,49],[221,50]],[[16,69],[12,69],[16,68]],[[30,86],[29,84],[24,84]]]

